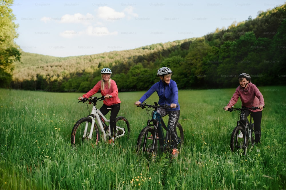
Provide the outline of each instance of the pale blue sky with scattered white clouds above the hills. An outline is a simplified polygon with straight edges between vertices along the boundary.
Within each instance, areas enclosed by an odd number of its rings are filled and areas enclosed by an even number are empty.
[[[15,42],[24,52],[67,57],[202,37],[283,4],[283,0],[14,0],[11,8],[19,24]]]

